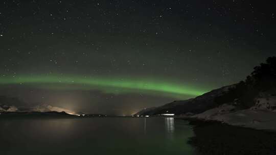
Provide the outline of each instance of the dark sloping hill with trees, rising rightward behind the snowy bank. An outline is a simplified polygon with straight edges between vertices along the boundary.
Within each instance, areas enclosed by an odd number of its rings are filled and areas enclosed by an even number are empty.
[[[254,71],[246,77],[246,80],[238,84],[215,89],[188,100],[173,101],[161,107],[142,110],[135,115],[198,114],[223,104],[247,109],[255,105],[255,98],[261,92],[276,95],[276,57],[269,57],[266,63],[254,67]]]

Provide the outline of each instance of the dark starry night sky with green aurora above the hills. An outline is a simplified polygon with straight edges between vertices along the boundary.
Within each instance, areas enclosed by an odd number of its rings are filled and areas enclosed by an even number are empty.
[[[116,115],[195,97],[275,56],[275,10],[238,0],[1,1],[0,95]]]

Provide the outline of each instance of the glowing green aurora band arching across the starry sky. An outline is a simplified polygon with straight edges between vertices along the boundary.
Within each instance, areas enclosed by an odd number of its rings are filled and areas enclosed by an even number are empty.
[[[100,90],[105,93],[141,93],[185,99],[202,95],[204,90],[192,89],[179,83],[152,79],[122,79],[74,76],[16,76],[0,77],[0,85],[33,85],[44,89]]]

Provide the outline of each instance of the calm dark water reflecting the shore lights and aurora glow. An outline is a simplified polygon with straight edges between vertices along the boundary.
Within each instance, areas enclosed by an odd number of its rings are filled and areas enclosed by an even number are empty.
[[[0,154],[194,154],[175,118],[0,120]]]

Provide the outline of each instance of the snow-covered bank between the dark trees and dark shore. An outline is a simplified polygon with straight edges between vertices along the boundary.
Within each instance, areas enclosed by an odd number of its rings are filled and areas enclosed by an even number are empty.
[[[261,97],[256,98],[255,106],[249,109],[236,110],[233,105],[222,105],[194,115],[192,118],[216,120],[231,125],[276,131],[275,108],[276,96],[262,94]]]

